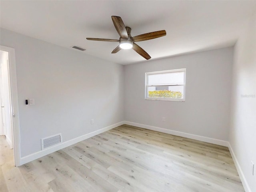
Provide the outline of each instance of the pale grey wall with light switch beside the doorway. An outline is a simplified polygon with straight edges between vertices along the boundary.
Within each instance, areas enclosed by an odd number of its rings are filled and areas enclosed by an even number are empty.
[[[0,39],[16,53],[21,157],[41,138],[65,142],[124,120],[124,66],[5,29]]]

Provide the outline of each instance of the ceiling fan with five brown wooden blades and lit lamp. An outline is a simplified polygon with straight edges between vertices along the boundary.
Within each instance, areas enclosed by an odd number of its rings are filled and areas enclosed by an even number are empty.
[[[148,60],[151,58],[150,55],[144,49],[138,46],[135,42],[146,41],[146,40],[150,40],[150,39],[154,39],[154,38],[158,38],[166,35],[166,31],[161,30],[161,31],[145,33],[145,34],[132,37],[131,28],[124,25],[124,22],[122,21],[121,17],[111,16],[111,18],[116,28],[116,31],[120,35],[119,40],[118,39],[101,39],[101,38],[86,38],[86,39],[93,40],[93,41],[119,42],[119,45],[112,51],[112,53],[117,53],[121,49],[132,48],[134,51],[136,51],[138,54],[140,54],[142,57]]]

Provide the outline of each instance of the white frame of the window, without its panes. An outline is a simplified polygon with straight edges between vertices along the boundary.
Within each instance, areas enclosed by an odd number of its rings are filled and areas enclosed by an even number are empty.
[[[161,74],[161,73],[168,73],[168,72],[184,72],[184,82],[183,84],[175,84],[175,85],[170,85],[170,84],[163,84],[163,85],[151,85],[148,86],[148,74]],[[148,97],[148,87],[153,87],[153,86],[183,86],[183,98],[152,98]],[[154,72],[146,72],[145,73],[145,100],[163,100],[163,101],[185,101],[185,91],[186,91],[186,68],[182,69],[173,69],[173,70],[164,70],[164,71],[154,71]]]

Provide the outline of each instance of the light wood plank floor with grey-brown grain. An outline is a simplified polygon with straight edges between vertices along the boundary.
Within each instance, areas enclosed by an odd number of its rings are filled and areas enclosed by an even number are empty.
[[[228,148],[133,126],[20,167],[0,149],[1,192],[244,192]]]

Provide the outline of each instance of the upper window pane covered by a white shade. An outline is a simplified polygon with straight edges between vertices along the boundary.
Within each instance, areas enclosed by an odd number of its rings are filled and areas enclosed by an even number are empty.
[[[152,85],[176,85],[184,83],[184,72],[166,72],[148,74],[148,86]]]

